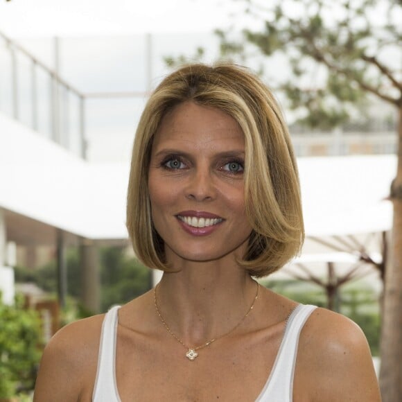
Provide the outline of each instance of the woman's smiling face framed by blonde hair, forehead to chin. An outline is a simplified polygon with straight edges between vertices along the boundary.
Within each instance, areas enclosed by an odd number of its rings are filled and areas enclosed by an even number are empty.
[[[161,121],[148,189],[166,259],[243,257],[252,231],[245,215],[245,141],[221,110],[186,102]]]

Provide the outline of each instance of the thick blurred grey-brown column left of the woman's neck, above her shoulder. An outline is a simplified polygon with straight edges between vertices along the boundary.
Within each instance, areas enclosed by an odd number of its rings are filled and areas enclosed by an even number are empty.
[[[94,241],[82,239],[80,245],[81,302],[91,313],[100,311],[100,264]]]

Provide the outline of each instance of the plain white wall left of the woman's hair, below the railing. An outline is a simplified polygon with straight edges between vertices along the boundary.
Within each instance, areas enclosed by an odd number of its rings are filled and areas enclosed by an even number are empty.
[[[128,173],[128,163],[89,164],[0,113],[0,209],[85,238],[126,238]]]

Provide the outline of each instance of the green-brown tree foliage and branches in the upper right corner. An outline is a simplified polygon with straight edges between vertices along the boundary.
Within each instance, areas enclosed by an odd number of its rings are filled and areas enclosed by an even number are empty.
[[[222,57],[270,60],[284,53],[288,70],[279,88],[303,123],[333,128],[367,95],[401,106],[401,1],[240,1],[258,28],[240,37],[218,30]]]

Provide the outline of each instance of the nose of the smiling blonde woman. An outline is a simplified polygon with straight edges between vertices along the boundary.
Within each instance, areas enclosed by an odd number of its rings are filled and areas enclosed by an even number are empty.
[[[216,197],[213,175],[208,168],[194,169],[189,176],[186,197],[195,201],[213,200]]]

